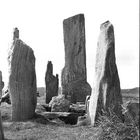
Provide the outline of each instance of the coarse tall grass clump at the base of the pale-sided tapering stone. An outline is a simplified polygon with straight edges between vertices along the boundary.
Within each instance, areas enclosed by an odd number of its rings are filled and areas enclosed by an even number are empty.
[[[98,127],[101,128],[100,140],[139,140],[139,126],[133,120],[122,122],[112,111],[100,116]]]

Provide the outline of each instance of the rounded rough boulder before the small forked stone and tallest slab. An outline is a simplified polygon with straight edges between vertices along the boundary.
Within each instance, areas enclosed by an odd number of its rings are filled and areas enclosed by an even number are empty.
[[[64,95],[55,96],[49,103],[52,112],[68,112],[70,101],[65,99]]]

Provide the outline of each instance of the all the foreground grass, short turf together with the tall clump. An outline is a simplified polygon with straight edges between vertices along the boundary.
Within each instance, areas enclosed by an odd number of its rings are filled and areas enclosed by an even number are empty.
[[[44,102],[44,96],[38,98],[38,103]],[[37,109],[43,111],[39,105]],[[0,110],[6,140],[138,140],[139,136],[133,121],[122,123],[112,112],[104,113],[93,127],[50,122],[40,115],[26,122],[12,122],[11,105],[2,103]]]

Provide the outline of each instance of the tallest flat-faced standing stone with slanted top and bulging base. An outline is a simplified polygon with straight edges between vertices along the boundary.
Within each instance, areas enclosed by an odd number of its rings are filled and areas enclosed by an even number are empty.
[[[91,94],[87,83],[85,19],[83,14],[63,21],[65,44],[65,67],[62,70],[62,93],[72,103],[85,102]]]

